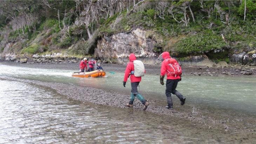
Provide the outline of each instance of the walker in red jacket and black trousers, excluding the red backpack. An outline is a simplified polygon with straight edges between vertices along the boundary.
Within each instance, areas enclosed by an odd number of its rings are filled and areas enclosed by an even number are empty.
[[[164,60],[162,62],[162,66],[161,66],[160,84],[164,85],[163,78],[164,78],[164,75],[166,73],[168,73],[167,70],[170,67],[168,59],[170,59],[171,57],[170,57],[169,52],[167,52],[167,51],[162,53],[162,57]],[[166,106],[166,108],[168,108],[168,109],[173,109],[173,101],[171,99],[171,93],[175,94],[180,99],[181,105],[184,105],[184,103],[185,103],[186,98],[184,98],[184,96],[176,90],[178,81],[181,81],[180,75],[177,75],[176,77],[171,74],[167,75],[165,94],[167,96],[167,103],[168,103],[168,106]]]

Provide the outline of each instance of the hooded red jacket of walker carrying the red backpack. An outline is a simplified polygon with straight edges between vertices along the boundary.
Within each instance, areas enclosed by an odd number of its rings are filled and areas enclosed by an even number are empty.
[[[169,65],[168,65],[169,62],[166,59],[171,58],[171,57],[170,57],[169,52],[167,52],[167,51],[163,52],[162,57],[163,57],[164,60],[162,62],[161,73],[160,74],[163,76],[167,73],[167,69],[169,67]],[[180,78],[181,78],[180,75],[177,75],[176,77],[174,77],[173,75],[170,75],[166,79],[180,79]]]

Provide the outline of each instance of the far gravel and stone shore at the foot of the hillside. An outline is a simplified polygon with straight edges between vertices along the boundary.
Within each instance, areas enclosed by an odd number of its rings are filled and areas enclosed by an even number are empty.
[[[17,63],[12,61],[2,61],[0,64],[29,67],[29,68],[43,68],[43,69],[61,69],[79,71],[80,62],[56,62],[56,63]],[[101,63],[103,70],[124,73],[126,65]],[[256,66],[237,66],[229,65],[228,67],[207,67],[207,66],[181,66],[183,75],[197,75],[197,76],[220,76],[220,77],[256,77]],[[146,74],[160,74],[161,65],[145,65]]]

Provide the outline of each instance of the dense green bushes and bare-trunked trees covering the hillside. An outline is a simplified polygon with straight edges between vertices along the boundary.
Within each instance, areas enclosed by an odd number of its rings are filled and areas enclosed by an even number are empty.
[[[0,13],[1,51],[26,39],[22,53],[69,48],[86,55],[101,36],[136,27],[157,42],[154,52],[178,57],[256,47],[255,0],[0,1]]]

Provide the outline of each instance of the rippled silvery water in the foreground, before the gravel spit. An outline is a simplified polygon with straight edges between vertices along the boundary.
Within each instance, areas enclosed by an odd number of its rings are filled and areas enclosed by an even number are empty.
[[[169,118],[68,100],[23,82],[0,80],[0,99],[0,143],[216,143]]]

